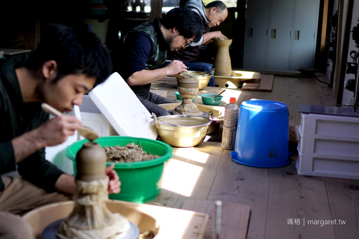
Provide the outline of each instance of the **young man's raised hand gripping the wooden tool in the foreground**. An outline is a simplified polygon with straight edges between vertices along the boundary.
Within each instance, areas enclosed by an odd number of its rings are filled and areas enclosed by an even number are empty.
[[[59,145],[74,135],[81,122],[75,116],[63,115],[46,121],[36,129],[38,139],[45,146]]]

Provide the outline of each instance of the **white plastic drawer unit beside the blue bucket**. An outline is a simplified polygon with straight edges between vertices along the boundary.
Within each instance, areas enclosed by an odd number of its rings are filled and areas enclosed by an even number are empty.
[[[359,118],[301,113],[298,174],[359,179]]]

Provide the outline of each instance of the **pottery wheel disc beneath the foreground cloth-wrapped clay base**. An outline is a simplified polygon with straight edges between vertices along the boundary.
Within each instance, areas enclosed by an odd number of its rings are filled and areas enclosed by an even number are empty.
[[[49,224],[42,232],[43,239],[59,239],[56,235],[60,228],[60,224],[64,219],[57,220]],[[113,239],[137,239],[140,229],[130,221],[130,229],[115,236]]]

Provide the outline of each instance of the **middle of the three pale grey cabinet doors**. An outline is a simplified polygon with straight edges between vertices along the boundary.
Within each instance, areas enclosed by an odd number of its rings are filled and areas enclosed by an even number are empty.
[[[267,36],[267,70],[288,71],[294,0],[271,0]]]

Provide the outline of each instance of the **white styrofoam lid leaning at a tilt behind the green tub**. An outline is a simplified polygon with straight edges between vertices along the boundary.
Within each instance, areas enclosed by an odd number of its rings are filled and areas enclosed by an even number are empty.
[[[92,89],[89,96],[118,135],[157,139],[150,112],[117,72]]]

